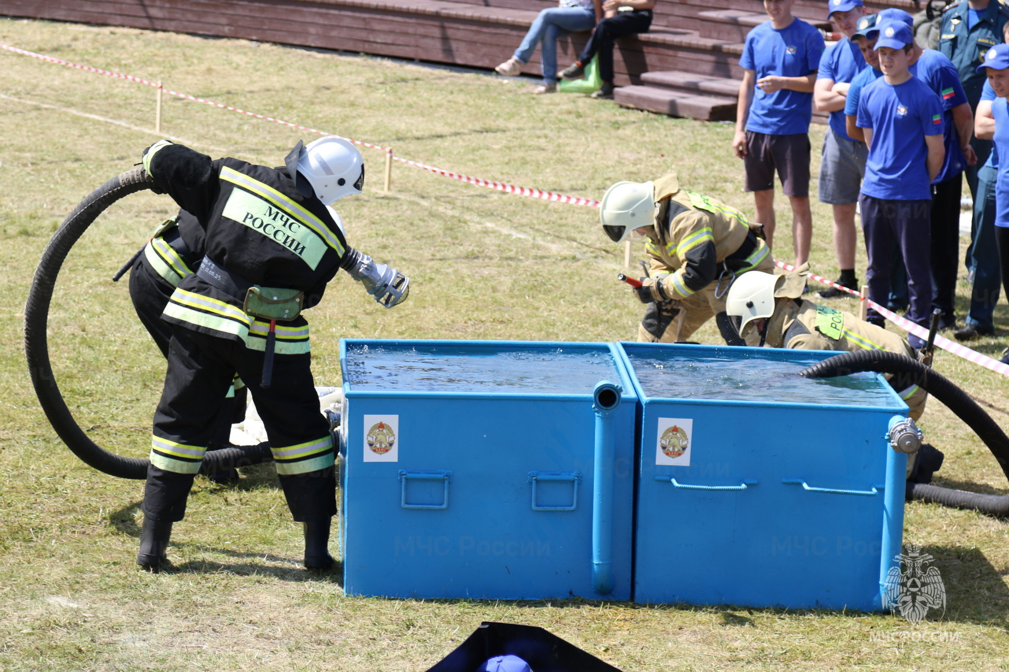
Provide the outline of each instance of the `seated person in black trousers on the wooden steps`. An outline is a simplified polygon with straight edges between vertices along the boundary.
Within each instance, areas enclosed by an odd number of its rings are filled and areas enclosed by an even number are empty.
[[[613,97],[613,44],[621,35],[648,32],[652,26],[652,8],[655,0],[605,0],[602,10],[605,17],[598,22],[588,44],[578,54],[578,60],[564,69],[561,77],[577,80],[585,74],[585,66],[597,55],[602,87],[592,98]]]

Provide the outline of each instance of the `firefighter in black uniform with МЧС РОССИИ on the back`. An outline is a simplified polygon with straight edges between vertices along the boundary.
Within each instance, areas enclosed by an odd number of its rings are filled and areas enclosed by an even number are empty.
[[[221,405],[237,374],[266,428],[281,486],[305,524],[305,566],[327,568],[336,513],[334,447],[319,413],[310,368],[309,327],[301,313],[322,299],[343,268],[386,308],[406,300],[409,278],[350,248],[326,206],[360,194],[364,165],[349,141],[299,142],[286,165],[211,160],[160,140],[143,152],[157,188],[205,233],[196,272],[173,292],[169,369],[154,415],[144,523],[137,564],[166,563],[172,525],[181,521]],[[282,324],[277,324],[282,323]]]

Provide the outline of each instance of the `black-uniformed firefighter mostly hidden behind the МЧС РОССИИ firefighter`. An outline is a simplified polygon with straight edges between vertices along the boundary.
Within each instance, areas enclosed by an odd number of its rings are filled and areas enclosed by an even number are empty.
[[[182,278],[200,267],[204,237],[203,227],[196,217],[180,210],[178,215],[158,226],[130,268],[129,296],[133,308],[165,358],[169,356],[172,329],[161,320],[161,313]],[[244,418],[246,399],[245,385],[236,377],[221,407],[214,436],[207,445],[208,451],[231,445],[231,425]],[[201,473],[217,483],[238,480],[237,469],[209,472],[201,468]]]

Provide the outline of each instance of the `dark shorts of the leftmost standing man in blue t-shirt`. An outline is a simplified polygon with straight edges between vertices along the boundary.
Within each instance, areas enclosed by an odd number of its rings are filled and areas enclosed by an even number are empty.
[[[746,191],[774,189],[774,174],[785,196],[809,196],[809,134],[769,135],[747,131]]]

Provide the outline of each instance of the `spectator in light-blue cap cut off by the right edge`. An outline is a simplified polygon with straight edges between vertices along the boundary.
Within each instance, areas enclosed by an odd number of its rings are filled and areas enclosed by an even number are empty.
[[[1009,47],[998,47],[1000,50]],[[992,67],[997,81],[1004,82],[1003,93],[1009,90],[1009,71]],[[984,69],[990,66],[985,62]],[[992,101],[998,96],[991,83],[985,82],[981,92],[975,116],[975,134],[986,130],[986,124],[992,119]],[[990,133],[985,133],[990,135]],[[971,226],[971,246],[967,249],[967,267],[970,269],[968,278],[971,281],[971,308],[967,313],[967,325],[961,327],[954,335],[957,340],[969,341],[979,336],[991,336],[995,333],[993,314],[995,305],[999,303],[999,249],[996,243],[996,229],[999,226],[1009,227],[1009,221],[997,224],[995,212],[995,184],[998,178],[999,152],[993,146],[988,154],[988,160],[978,171],[978,189],[974,198],[974,219]],[[1006,250],[1009,252],[1009,241]],[[1003,272],[1009,271],[1005,268]],[[1009,277],[1007,277],[1009,279]],[[1007,286],[1009,287],[1009,286]],[[1009,298],[1009,291],[1006,292]]]

